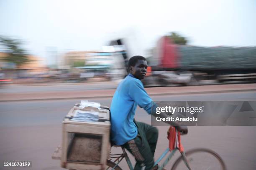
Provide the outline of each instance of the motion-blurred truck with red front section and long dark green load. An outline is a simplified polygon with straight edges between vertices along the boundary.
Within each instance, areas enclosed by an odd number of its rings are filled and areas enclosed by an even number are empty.
[[[125,67],[132,57],[127,50],[132,43],[122,39],[111,41],[111,45],[125,47],[122,51]],[[256,80],[256,47],[177,45],[170,37],[163,36],[153,51],[147,59],[148,73],[142,80],[145,86]]]

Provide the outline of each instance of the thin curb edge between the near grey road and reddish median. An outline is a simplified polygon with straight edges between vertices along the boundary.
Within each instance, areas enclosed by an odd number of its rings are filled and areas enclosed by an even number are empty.
[[[212,94],[212,93],[223,93],[223,92],[251,92],[256,89],[237,89],[237,90],[215,90],[215,91],[195,91],[195,92],[166,92],[166,93],[148,93],[149,96],[165,96],[165,95],[193,95],[193,94]],[[24,101],[42,101],[42,100],[72,100],[82,98],[110,98],[113,95],[102,95],[102,96],[77,96],[77,97],[54,97],[54,98],[36,98],[36,99],[18,99],[18,100],[0,100],[0,102],[24,102]]]

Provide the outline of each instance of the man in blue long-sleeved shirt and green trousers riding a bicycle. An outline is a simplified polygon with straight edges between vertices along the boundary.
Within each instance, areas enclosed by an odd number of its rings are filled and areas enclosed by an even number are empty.
[[[134,170],[151,170],[154,165],[154,153],[158,138],[158,130],[143,122],[134,120],[137,105],[148,114],[155,114],[156,104],[144,90],[141,80],[147,71],[147,61],[142,56],[133,56],[128,62],[129,74],[118,85],[111,103],[111,142],[122,145],[136,159]],[[186,126],[174,122],[177,130],[187,133]],[[157,169],[154,167],[153,169]]]

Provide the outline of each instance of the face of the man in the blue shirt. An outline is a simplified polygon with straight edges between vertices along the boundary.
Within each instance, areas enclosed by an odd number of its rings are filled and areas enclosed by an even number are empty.
[[[139,80],[142,80],[147,73],[148,63],[145,60],[138,60],[136,65],[130,67],[130,73]]]

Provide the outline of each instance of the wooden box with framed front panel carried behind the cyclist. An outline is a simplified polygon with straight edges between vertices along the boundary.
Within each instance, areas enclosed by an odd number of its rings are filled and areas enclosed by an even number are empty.
[[[74,106],[67,117],[74,116]],[[82,110],[81,108],[79,108]],[[61,167],[68,169],[105,169],[110,151],[110,121],[106,109],[99,112],[100,122],[62,122]]]

